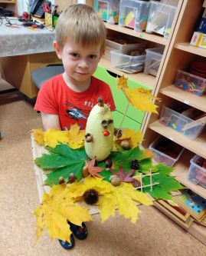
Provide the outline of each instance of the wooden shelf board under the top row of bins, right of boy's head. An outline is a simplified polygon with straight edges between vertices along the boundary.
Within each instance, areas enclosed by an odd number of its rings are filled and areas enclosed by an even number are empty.
[[[112,24],[109,24],[106,22],[105,22],[105,26],[106,26],[106,28],[111,29],[113,31],[121,32],[126,35],[132,35],[136,38],[142,38],[142,39],[148,40],[150,42],[158,43],[160,45],[167,45],[167,43],[168,43],[168,40],[163,38],[160,35],[153,35],[153,34],[149,34],[146,32],[136,32],[131,28],[124,28],[119,25],[112,25]]]

